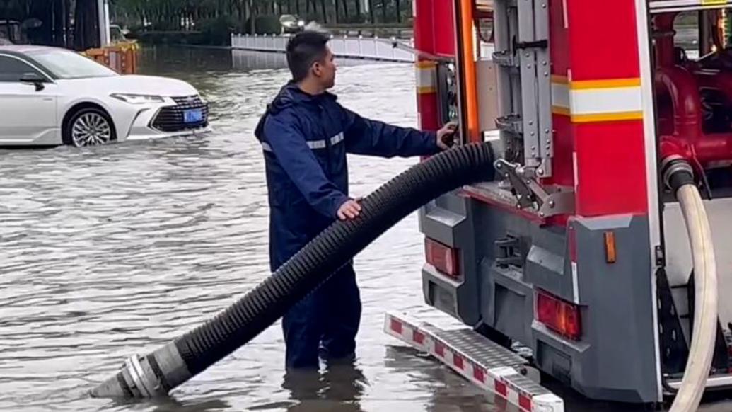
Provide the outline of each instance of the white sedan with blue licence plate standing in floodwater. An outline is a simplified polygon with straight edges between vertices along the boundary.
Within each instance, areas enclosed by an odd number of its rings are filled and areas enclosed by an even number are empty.
[[[122,76],[73,51],[0,46],[0,146],[76,147],[209,131],[209,103],[172,78]]]

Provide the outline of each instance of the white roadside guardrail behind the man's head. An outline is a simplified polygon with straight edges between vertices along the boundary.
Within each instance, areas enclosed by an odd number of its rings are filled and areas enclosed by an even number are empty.
[[[280,35],[250,36],[232,34],[231,48],[234,50],[285,52],[290,37]],[[414,40],[398,40],[403,45],[414,48]],[[414,53],[396,48],[393,40],[378,37],[331,37],[329,47],[339,57],[353,59],[385,60],[388,62],[414,62]]]

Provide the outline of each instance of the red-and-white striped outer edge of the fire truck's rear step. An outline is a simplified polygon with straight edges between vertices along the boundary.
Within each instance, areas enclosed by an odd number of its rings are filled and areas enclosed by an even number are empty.
[[[446,364],[481,389],[504,398],[526,412],[564,412],[564,401],[521,375],[513,367],[486,368],[466,353],[433,334],[432,325],[419,323],[403,314],[387,313],[384,331]]]

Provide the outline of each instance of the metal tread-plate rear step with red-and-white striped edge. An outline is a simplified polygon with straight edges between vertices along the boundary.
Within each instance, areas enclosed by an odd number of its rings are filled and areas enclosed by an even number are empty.
[[[443,330],[407,314],[388,312],[384,331],[521,411],[564,412],[560,397],[524,375],[530,369],[526,359],[471,329]]]

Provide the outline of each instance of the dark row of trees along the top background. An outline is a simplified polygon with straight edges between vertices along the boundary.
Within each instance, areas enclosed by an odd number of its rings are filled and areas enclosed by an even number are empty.
[[[109,0],[113,23],[135,32],[278,32],[283,14],[324,26],[406,25],[412,0]],[[99,44],[98,0],[0,0],[0,21],[34,19],[31,43],[77,50]],[[256,24],[253,24],[256,23]],[[3,29],[0,27],[0,29]]]

